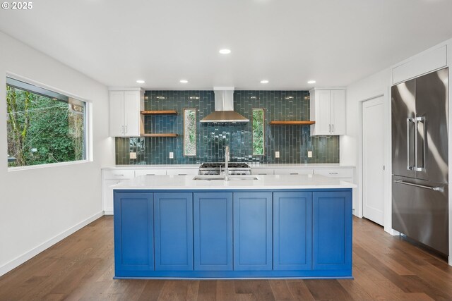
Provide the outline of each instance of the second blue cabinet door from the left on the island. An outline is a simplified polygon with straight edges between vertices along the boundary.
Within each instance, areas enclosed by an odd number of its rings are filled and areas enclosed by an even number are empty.
[[[193,194],[154,193],[155,271],[193,270]]]

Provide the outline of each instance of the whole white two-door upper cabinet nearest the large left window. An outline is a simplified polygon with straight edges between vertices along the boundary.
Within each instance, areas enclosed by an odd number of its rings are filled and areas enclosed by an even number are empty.
[[[112,137],[138,137],[142,133],[140,111],[143,109],[144,92],[133,90],[109,91],[109,134]]]

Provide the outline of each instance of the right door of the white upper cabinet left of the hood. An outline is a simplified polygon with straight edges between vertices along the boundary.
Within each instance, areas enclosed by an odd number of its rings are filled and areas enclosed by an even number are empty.
[[[124,135],[140,135],[140,92],[124,92]]]

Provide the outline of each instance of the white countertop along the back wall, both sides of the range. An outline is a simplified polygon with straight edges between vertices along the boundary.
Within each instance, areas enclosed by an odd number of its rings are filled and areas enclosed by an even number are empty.
[[[184,169],[184,168],[199,168],[201,164],[156,164],[156,165],[117,165],[111,167],[105,167],[102,169],[112,169],[112,168],[126,168],[126,169],[146,169],[146,168],[157,168],[157,169]],[[340,164],[266,164],[261,163],[259,165],[249,164],[251,168],[346,168],[355,167],[350,165],[340,165]]]

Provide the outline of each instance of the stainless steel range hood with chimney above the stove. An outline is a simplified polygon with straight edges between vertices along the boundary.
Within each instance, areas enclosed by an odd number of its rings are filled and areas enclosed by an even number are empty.
[[[234,87],[213,87],[215,111],[204,117],[202,123],[246,123],[248,118],[234,111]]]

